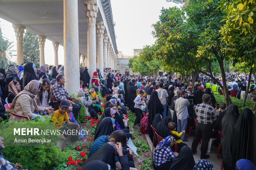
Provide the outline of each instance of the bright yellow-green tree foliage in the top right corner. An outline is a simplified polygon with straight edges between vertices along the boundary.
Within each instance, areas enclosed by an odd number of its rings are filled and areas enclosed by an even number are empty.
[[[256,63],[256,0],[223,0],[225,13],[221,27],[222,40],[227,44],[223,51],[233,58],[233,66],[245,62],[251,68]]]

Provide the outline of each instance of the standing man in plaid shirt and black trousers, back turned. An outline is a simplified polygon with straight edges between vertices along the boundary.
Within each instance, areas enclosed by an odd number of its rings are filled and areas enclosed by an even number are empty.
[[[197,125],[194,140],[192,142],[191,150],[193,154],[197,153],[197,146],[202,139],[201,144],[201,157],[200,159],[207,159],[210,156],[206,155],[208,148],[208,142],[211,138],[211,132],[213,130],[213,122],[216,121],[216,109],[209,105],[211,95],[204,94],[202,96],[203,103],[198,104],[195,111],[197,115]]]

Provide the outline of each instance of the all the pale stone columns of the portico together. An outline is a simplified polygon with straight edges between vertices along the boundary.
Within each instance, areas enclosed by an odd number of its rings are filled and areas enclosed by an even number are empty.
[[[108,34],[104,34],[104,22],[96,23],[98,11],[97,0],[84,0],[84,5],[88,25],[87,56],[79,54],[78,2],[77,0],[64,0],[64,75],[66,77],[65,88],[70,93],[76,93],[76,90],[79,88],[79,69],[76,68],[80,64],[81,56],[83,67],[88,67],[91,78],[96,68],[99,68],[103,75],[104,68],[110,67],[114,69],[115,65],[115,53],[113,47],[111,47]],[[20,65],[24,63],[22,40],[25,27],[22,25],[13,25],[13,28],[17,38],[17,65]],[[44,35],[37,35],[37,37],[40,47],[40,65],[45,65],[44,47],[46,37]],[[52,45],[55,65],[57,66],[59,42],[52,42]]]

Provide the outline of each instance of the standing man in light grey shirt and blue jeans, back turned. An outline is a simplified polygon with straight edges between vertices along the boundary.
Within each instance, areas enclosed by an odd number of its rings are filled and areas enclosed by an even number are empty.
[[[187,107],[189,105],[190,102],[187,100],[187,92],[181,91],[180,98],[178,98],[175,101],[175,111],[178,119],[178,133],[182,132],[183,130],[186,130],[187,118],[189,117]],[[183,140],[183,142],[188,141],[187,139],[185,139],[185,133],[181,135],[180,140]]]

